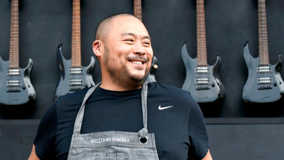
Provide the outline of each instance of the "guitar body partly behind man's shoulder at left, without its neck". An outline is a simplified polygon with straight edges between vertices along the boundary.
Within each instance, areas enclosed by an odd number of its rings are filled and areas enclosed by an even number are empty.
[[[57,89],[54,99],[60,95],[72,93],[85,87],[95,85],[92,73],[95,68],[95,59],[91,56],[91,62],[88,66],[80,68],[71,67],[71,59],[66,60],[62,54],[62,44],[57,50],[57,62],[60,68],[60,80],[57,84]]]

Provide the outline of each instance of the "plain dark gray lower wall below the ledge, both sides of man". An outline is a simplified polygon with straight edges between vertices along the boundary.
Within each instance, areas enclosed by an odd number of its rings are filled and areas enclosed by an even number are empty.
[[[39,120],[0,120],[0,159],[28,159]],[[284,124],[207,124],[214,160],[283,159]]]

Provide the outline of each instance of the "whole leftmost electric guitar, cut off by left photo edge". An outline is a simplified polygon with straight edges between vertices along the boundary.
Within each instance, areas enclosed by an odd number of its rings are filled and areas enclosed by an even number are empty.
[[[35,89],[30,82],[33,61],[26,68],[19,67],[19,7],[18,0],[11,1],[11,28],[9,60],[0,56],[0,104],[23,105],[33,103]]]

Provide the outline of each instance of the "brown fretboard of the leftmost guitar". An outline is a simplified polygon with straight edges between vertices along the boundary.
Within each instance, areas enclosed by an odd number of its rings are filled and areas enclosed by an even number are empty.
[[[19,68],[19,1],[11,1],[9,68]]]

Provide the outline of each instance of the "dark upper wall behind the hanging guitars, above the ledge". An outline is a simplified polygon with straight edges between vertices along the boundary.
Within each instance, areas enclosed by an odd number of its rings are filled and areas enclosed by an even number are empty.
[[[284,51],[284,1],[269,0],[267,27],[270,63],[277,62],[277,54]],[[142,0],[143,23],[152,39],[159,69],[156,80],[180,88],[185,79],[185,67],[180,51],[186,41],[191,57],[196,57],[196,2],[194,0]],[[71,0],[25,0],[19,6],[20,67],[28,57],[34,62],[31,81],[37,99],[30,115],[21,118],[40,119],[53,103],[59,80],[56,61],[57,46],[63,43],[65,58],[71,57]],[[92,42],[98,23],[116,13],[133,13],[132,0],[81,0],[82,65],[88,65],[93,55]],[[243,59],[243,45],[249,41],[251,54],[258,56],[258,25],[256,0],[205,0],[208,63],[222,58],[220,79],[225,86],[226,100],[217,117],[251,117],[242,102],[242,87],[247,78]],[[0,55],[9,59],[10,1],[0,1]],[[101,81],[96,61],[95,83]],[[284,71],[281,71],[282,77]],[[283,108],[282,106],[280,106]],[[262,116],[281,117],[283,110]],[[257,109],[254,113],[257,113]],[[9,116],[0,115],[0,118]],[[11,117],[17,118],[17,116]]]

